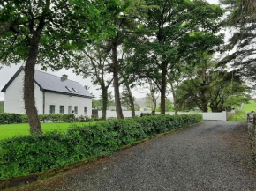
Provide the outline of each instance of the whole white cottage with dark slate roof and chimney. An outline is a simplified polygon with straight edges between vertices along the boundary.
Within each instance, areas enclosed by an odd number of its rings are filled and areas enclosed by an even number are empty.
[[[24,68],[20,67],[4,86],[4,112],[26,114],[23,100]],[[67,75],[54,75],[35,70],[35,105],[39,114],[92,115],[92,95]]]

